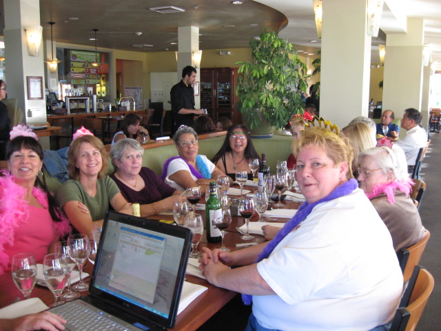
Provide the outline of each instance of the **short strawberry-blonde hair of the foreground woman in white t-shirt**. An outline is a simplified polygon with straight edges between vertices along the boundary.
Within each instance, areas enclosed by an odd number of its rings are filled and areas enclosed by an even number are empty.
[[[346,162],[348,165],[352,163],[353,151],[349,144],[349,140],[345,136],[338,136],[327,128],[305,128],[300,138],[293,145],[294,157],[298,157],[298,153],[307,146],[318,146],[326,151],[329,159],[334,161],[336,165]],[[346,178],[353,178],[351,169],[348,166]]]

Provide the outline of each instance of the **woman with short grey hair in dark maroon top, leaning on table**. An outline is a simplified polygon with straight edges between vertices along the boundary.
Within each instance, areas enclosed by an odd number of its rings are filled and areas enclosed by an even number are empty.
[[[110,149],[115,172],[110,177],[131,203],[141,205],[141,216],[172,210],[175,201],[185,201],[181,191],[167,185],[149,168],[143,167],[143,152],[138,141],[121,139]]]

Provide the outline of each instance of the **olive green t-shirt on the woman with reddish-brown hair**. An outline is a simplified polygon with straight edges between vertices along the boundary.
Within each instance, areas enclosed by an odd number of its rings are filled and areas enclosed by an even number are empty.
[[[69,201],[81,201],[89,208],[92,221],[103,219],[105,211],[109,209],[110,200],[120,191],[113,179],[108,176],[98,179],[96,186],[95,197],[90,197],[80,181],[69,179],[57,190],[57,203],[63,208]]]

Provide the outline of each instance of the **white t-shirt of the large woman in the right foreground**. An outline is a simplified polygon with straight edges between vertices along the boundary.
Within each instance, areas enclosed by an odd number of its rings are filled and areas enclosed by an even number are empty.
[[[253,296],[254,316],[277,330],[370,330],[402,292],[391,235],[360,189],[317,205],[257,269],[277,295]]]

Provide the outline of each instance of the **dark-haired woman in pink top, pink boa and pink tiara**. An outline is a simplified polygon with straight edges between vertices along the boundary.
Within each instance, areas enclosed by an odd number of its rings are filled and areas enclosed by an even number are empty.
[[[37,135],[20,124],[6,148],[9,172],[0,177],[0,274],[10,270],[14,254],[32,252],[37,261],[52,250],[70,224],[57,208],[43,174],[43,148]]]

